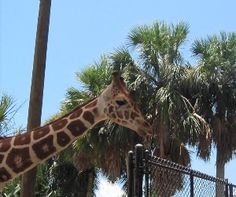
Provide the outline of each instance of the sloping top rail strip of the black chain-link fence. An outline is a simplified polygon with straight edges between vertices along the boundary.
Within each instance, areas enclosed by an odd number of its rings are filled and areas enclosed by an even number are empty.
[[[217,177],[213,177],[213,176],[209,176],[207,174],[204,174],[202,172],[193,170],[189,167],[174,163],[174,162],[169,161],[167,159],[163,159],[163,158],[156,157],[156,156],[151,156],[150,154],[149,154],[149,157],[148,157],[148,162],[152,165],[157,165],[157,166],[160,166],[160,167],[173,169],[175,171],[180,171],[182,173],[189,174],[189,175],[191,174],[195,177],[206,179],[206,180],[209,180],[209,181],[214,181],[214,182],[218,182],[218,183],[222,183],[222,184],[230,184],[226,180],[223,180],[223,179],[220,179],[220,178],[217,178]],[[233,184],[230,184],[230,185],[235,187],[235,185],[233,185]]]

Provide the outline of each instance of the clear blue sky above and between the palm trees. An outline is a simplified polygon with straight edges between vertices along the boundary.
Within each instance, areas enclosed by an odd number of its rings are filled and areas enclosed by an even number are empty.
[[[42,121],[56,113],[66,89],[81,88],[75,72],[127,42],[129,31],[155,20],[190,25],[185,47],[196,38],[236,31],[234,0],[119,0],[52,1]],[[0,1],[0,93],[17,105],[16,125],[26,125],[39,1]],[[192,60],[186,52],[186,58]],[[193,158],[193,168],[214,175],[215,161]],[[236,183],[236,162],[226,177]]]

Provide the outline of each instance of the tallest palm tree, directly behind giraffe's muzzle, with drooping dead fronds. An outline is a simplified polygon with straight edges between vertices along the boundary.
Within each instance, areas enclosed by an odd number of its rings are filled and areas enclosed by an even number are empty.
[[[206,128],[183,89],[191,71],[184,65],[180,51],[187,34],[185,23],[167,25],[160,22],[135,28],[129,34],[130,46],[137,49],[140,62],[136,89],[143,95],[143,103],[148,103],[150,116],[158,125],[159,156],[175,162],[185,161],[185,165],[190,162],[189,155],[184,155],[186,159],[174,158],[171,151],[180,148],[182,143],[193,143],[193,139],[201,135],[200,130]]]

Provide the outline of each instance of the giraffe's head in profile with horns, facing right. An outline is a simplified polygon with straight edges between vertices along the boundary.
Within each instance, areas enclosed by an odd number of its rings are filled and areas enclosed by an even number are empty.
[[[113,73],[112,83],[103,91],[104,113],[113,122],[136,131],[140,136],[151,135],[152,128],[130,96],[123,78]]]

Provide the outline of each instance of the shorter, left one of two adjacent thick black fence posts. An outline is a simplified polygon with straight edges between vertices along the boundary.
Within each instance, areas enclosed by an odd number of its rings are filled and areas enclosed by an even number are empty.
[[[127,163],[127,176],[128,176],[128,197],[133,197],[134,191],[134,154],[133,151],[128,152]]]

